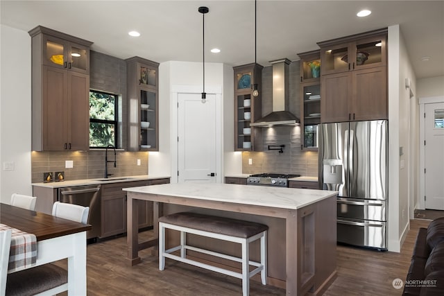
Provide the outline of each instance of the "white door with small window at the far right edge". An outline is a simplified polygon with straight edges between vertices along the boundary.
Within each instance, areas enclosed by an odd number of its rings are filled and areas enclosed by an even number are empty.
[[[425,208],[444,210],[444,103],[425,104]]]

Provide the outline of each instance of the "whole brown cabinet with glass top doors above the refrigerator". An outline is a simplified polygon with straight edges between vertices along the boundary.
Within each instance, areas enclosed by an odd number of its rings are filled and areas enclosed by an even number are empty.
[[[318,44],[321,122],[387,119],[386,29]]]

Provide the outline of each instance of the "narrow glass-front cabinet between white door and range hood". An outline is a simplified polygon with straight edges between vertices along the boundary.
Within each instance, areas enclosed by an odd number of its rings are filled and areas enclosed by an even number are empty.
[[[262,131],[250,123],[262,117],[262,66],[245,64],[234,70],[234,150],[258,151],[262,147]],[[258,96],[252,85],[257,84]]]

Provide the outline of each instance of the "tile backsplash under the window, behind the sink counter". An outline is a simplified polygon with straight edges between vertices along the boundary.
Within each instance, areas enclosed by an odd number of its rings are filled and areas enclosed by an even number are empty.
[[[137,166],[140,159],[140,166]],[[65,161],[73,161],[73,168],[65,168]],[[114,160],[114,151],[108,150],[108,160]],[[65,180],[101,178],[105,175],[105,150],[50,151],[31,153],[32,182],[43,182],[46,172],[65,172]],[[111,175],[112,174],[112,175]],[[117,150],[116,167],[108,163],[108,175],[121,177],[148,174],[148,152],[126,152]]]

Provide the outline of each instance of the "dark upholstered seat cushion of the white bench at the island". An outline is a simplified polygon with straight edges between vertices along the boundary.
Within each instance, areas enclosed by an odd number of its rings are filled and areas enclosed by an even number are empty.
[[[259,223],[190,212],[162,216],[159,222],[239,238],[249,238],[268,229],[268,226]]]

